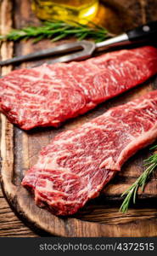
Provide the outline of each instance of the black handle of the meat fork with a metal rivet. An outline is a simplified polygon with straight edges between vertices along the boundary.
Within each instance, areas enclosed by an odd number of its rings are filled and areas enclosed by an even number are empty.
[[[149,40],[157,41],[157,20],[151,21],[143,26],[138,26],[133,30],[129,30],[126,34],[131,42]]]

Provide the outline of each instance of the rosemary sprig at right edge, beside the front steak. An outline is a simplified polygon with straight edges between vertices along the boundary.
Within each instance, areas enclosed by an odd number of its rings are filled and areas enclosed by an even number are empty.
[[[157,149],[157,145],[150,149]],[[134,204],[136,203],[137,190],[141,188],[143,192],[145,185],[149,181],[149,177],[157,169],[157,154],[152,154],[147,160],[144,160],[143,166],[146,167],[145,171],[137,178],[136,182],[133,183],[129,189],[126,189],[126,191],[121,195],[126,195],[126,198],[120,207],[120,211],[123,213],[127,212],[131,201],[133,201]]]

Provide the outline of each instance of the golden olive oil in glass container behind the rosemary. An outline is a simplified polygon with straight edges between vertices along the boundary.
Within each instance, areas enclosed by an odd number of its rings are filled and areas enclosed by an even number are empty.
[[[98,11],[98,0],[32,0],[32,9],[42,20],[75,20],[86,24]]]

